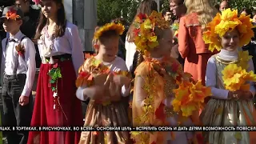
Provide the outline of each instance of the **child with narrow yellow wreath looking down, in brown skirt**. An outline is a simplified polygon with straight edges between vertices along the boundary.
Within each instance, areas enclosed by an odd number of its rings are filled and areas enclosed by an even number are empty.
[[[90,98],[84,126],[129,126],[128,99],[130,78],[126,62],[116,56],[121,24],[108,23],[94,33],[98,54],[80,67],[77,97]],[[128,98],[128,97],[127,97]],[[129,143],[128,131],[83,131],[80,144]]]

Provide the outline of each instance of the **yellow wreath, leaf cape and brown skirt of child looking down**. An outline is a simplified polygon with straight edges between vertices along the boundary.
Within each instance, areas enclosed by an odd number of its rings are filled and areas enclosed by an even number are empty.
[[[114,30],[117,34],[122,34],[124,26],[121,24],[108,23],[94,33],[94,38],[98,39],[103,33]],[[77,97],[83,101],[89,97],[84,96],[83,90],[90,86],[102,86],[108,74],[115,76],[122,75],[130,77],[126,68],[126,62],[122,58],[116,57],[112,62],[101,62],[96,57],[91,56],[80,67],[76,86],[78,87]],[[128,121],[128,99],[130,87],[119,86],[114,82],[110,83],[105,95],[101,98],[90,98],[86,110],[84,126],[129,126]],[[110,92],[110,94],[109,94]],[[119,99],[110,99],[111,96],[118,96]],[[85,98],[86,97],[86,98]],[[130,143],[128,131],[83,131],[80,144],[106,144],[106,143]]]

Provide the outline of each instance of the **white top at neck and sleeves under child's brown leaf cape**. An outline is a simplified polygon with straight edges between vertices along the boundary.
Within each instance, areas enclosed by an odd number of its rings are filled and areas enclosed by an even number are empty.
[[[102,62],[103,65],[110,67],[110,71],[118,72],[120,70],[127,71],[126,63],[122,58],[116,57],[114,61],[112,62]],[[88,97],[83,94],[83,90],[86,89],[86,86],[84,87],[78,87],[77,90],[77,97],[78,99],[82,101],[86,101]],[[126,97],[130,94],[130,86],[126,88],[126,86],[122,86],[121,94],[123,97]]]

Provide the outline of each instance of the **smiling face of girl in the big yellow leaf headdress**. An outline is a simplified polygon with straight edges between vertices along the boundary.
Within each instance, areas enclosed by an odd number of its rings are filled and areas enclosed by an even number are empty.
[[[226,32],[226,34],[221,38],[222,48],[228,51],[234,51],[238,49],[239,46],[239,34],[238,30],[232,30]]]

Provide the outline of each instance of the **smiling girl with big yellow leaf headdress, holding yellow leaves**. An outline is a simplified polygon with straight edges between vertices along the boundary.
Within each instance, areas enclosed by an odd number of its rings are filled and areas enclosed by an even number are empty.
[[[248,51],[240,48],[254,36],[252,27],[250,16],[238,17],[238,10],[227,9],[216,15],[203,34],[210,50],[220,50],[206,68],[206,86],[211,86],[212,96],[201,114],[205,126],[256,125],[254,65]],[[204,136],[210,144],[256,142],[255,131],[210,131]]]

